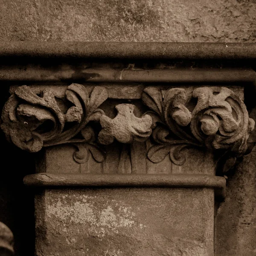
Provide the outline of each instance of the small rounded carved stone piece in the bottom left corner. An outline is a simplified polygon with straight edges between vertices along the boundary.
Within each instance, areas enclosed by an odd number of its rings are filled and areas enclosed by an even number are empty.
[[[12,231],[2,222],[0,222],[0,255],[14,255]]]

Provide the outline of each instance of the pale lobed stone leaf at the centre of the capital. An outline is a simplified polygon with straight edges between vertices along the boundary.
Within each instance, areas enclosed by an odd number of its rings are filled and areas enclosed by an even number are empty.
[[[146,140],[152,130],[152,118],[149,115],[144,115],[141,118],[134,116],[135,106],[132,104],[116,105],[118,111],[114,119],[108,116],[100,118],[102,130],[99,133],[99,142],[108,145],[114,139],[121,143],[132,143],[134,140]]]

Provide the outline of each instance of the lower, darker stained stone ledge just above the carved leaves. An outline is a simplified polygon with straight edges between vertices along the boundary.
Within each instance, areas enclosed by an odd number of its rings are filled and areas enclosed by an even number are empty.
[[[77,69],[77,70],[76,70]],[[76,76],[75,76],[76,73]],[[41,82],[41,83],[59,83],[84,81],[88,83],[115,83],[115,86],[129,83],[137,83],[135,86],[140,87],[139,83],[238,83],[256,81],[256,72],[251,68],[173,68],[164,66],[156,69],[139,69],[129,68],[126,64],[124,68],[115,67],[105,68],[74,68],[72,65],[59,64],[58,70],[38,66],[24,66],[20,68],[0,67],[0,81],[13,82]],[[113,84],[109,85],[113,87]],[[248,86],[247,84],[244,85]],[[12,90],[12,89],[11,89]]]

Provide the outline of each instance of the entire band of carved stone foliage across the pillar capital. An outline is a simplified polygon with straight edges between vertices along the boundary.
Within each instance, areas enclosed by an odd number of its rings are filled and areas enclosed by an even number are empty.
[[[132,104],[116,105],[117,116],[109,118],[99,108],[106,99],[105,87],[94,87],[89,96],[86,87],[71,84],[65,91],[69,107],[64,111],[52,90],[36,94],[23,85],[6,102],[1,128],[9,141],[30,152],[72,143],[78,148],[74,159],[79,163],[88,160],[89,152],[97,162],[104,161],[101,145],[115,139],[132,143],[151,136],[149,160],[158,163],[169,154],[178,165],[185,161],[180,152],[189,147],[223,150],[239,157],[254,128],[244,102],[226,87],[199,87],[190,93],[181,88],[162,93],[158,87],[146,87],[142,101],[151,110],[141,118],[134,116]],[[101,125],[98,134],[92,122]]]

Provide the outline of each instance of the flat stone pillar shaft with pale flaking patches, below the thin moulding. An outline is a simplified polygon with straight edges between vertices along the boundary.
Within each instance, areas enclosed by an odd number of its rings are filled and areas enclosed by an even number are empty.
[[[47,189],[37,256],[213,256],[212,189]]]

